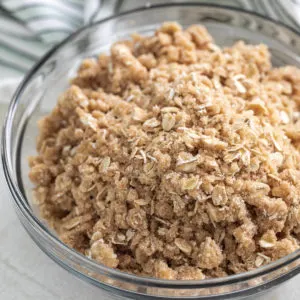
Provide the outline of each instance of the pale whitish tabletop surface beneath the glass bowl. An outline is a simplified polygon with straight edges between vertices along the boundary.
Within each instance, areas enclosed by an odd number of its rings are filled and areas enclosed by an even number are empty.
[[[3,95],[3,94],[2,94]],[[1,87],[0,87],[1,98]],[[0,102],[0,123],[7,104]],[[3,300],[108,300],[111,296],[68,273],[31,240],[12,205],[0,165],[0,299]],[[258,300],[300,299],[300,276]]]

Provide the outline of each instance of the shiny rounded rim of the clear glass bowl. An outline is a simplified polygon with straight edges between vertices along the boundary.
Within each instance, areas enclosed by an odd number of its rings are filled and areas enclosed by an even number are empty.
[[[30,69],[30,71],[25,75],[22,82],[19,84],[18,88],[16,89],[8,108],[8,111],[6,113],[6,117],[4,120],[3,125],[3,131],[2,131],[2,146],[1,146],[1,157],[2,157],[2,164],[3,164],[3,171],[5,175],[5,179],[7,182],[7,185],[10,189],[10,192],[13,195],[13,200],[19,209],[19,212],[27,219],[27,221],[30,222],[31,226],[36,226],[37,231],[39,234],[42,234],[47,238],[49,241],[54,243],[57,247],[59,247],[60,250],[65,252],[71,252],[72,257],[76,259],[76,263],[81,263],[85,266],[86,269],[90,269],[93,272],[96,272],[98,274],[109,276],[116,280],[122,280],[124,282],[128,283],[135,283],[135,284],[141,284],[141,285],[147,285],[150,287],[160,287],[160,288],[173,288],[173,289],[184,289],[184,288],[209,288],[209,287],[220,287],[224,285],[234,284],[238,282],[242,282],[244,280],[253,279],[258,276],[262,276],[265,274],[268,274],[270,272],[276,271],[279,268],[285,267],[288,264],[294,262],[298,258],[300,258],[300,249],[296,250],[295,252],[282,257],[279,260],[276,260],[270,264],[267,264],[265,266],[256,268],[251,271],[243,272],[240,274],[235,275],[229,275],[227,277],[221,277],[221,278],[213,278],[213,279],[203,279],[203,280],[166,280],[166,279],[157,279],[153,277],[143,277],[143,276],[137,276],[130,273],[126,273],[123,271],[120,271],[118,269],[113,269],[110,267],[106,267],[105,265],[102,265],[92,259],[89,259],[88,257],[84,256],[83,254],[77,252],[76,250],[68,247],[65,245],[61,240],[59,240],[53,233],[51,233],[47,227],[41,222],[41,220],[38,219],[37,216],[33,213],[33,211],[30,210],[29,205],[26,204],[26,197],[23,195],[21,189],[18,186],[17,181],[14,179],[14,170],[12,167],[12,155],[11,155],[11,128],[13,124],[13,119],[15,116],[15,112],[17,109],[17,105],[19,102],[19,98],[22,95],[23,90],[26,88],[27,84],[30,82],[34,74],[44,65],[44,63],[50,59],[60,48],[68,44],[69,41],[76,38],[78,35],[80,35],[83,31],[94,27],[99,26],[102,23],[105,23],[110,20],[118,19],[122,16],[127,16],[130,14],[143,12],[151,9],[164,9],[168,7],[182,7],[182,6],[195,6],[195,7],[207,7],[207,8],[220,8],[226,11],[235,11],[235,12],[241,12],[243,14],[249,15],[249,16],[255,16],[260,19],[267,20],[268,22],[271,22],[279,27],[282,27],[288,31],[293,32],[298,37],[300,37],[300,32],[298,32],[293,27],[284,24],[278,20],[274,20],[268,16],[265,16],[263,14],[254,12],[254,11],[248,11],[243,8],[238,7],[231,7],[229,5],[221,5],[221,4],[208,4],[208,3],[197,3],[197,2],[176,2],[176,3],[164,3],[164,4],[155,4],[155,5],[149,5],[146,4],[145,6],[141,6],[132,10],[127,10],[124,12],[121,12],[119,14],[109,16],[107,18],[101,19],[96,22],[88,23],[87,25],[79,28],[74,33],[70,34],[68,37],[66,37],[63,41],[56,44],[51,48],[46,54],[44,54],[40,60]],[[63,262],[64,263],[64,262]],[[65,264],[65,263],[64,263]],[[75,270],[75,272],[78,272],[76,269],[74,269],[72,266],[69,266],[68,264],[65,264],[68,266],[68,268],[71,268],[72,270]],[[300,271],[300,266],[295,267],[294,269],[290,270],[288,273],[291,273],[295,270]],[[88,277],[85,273],[81,273],[84,277]],[[279,275],[275,280],[280,279],[281,276]],[[106,283],[104,283],[106,284]]]

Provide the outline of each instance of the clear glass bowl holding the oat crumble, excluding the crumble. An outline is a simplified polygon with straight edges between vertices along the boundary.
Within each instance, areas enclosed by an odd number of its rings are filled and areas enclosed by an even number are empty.
[[[2,159],[17,214],[32,239],[63,268],[111,294],[129,298],[233,298],[256,294],[293,277],[300,271],[300,250],[257,270],[220,279],[171,281],[138,277],[98,264],[64,245],[31,203],[28,156],[35,153],[36,121],[55,105],[84,57],[107,51],[130,33],[151,34],[162,22],[207,26],[217,44],[237,40],[265,43],[275,66],[300,66],[300,36],[264,16],[224,6],[197,3],[144,7],[89,25],[48,52],[17,89],[7,114]]]

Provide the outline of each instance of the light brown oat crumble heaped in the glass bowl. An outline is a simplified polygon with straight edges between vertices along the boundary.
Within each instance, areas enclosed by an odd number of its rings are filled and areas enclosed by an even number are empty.
[[[39,122],[30,179],[68,246],[164,279],[245,272],[299,248],[300,70],[165,23],[82,62]]]

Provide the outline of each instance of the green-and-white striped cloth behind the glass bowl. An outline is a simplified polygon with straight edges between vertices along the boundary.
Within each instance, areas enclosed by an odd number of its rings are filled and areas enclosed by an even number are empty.
[[[300,0],[197,2],[256,11],[300,31]],[[0,0],[0,80],[21,77],[53,44],[84,24],[149,3],[158,4],[162,1]]]

